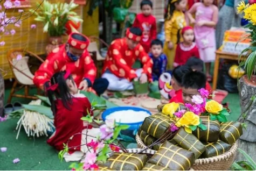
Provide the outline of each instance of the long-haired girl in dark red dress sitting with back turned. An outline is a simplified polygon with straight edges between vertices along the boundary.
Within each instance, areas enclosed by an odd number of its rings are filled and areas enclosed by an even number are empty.
[[[85,95],[79,94],[77,84],[69,71],[55,73],[51,80],[45,83],[45,89],[51,102],[56,127],[47,143],[59,151],[64,148],[63,144],[68,143],[69,149],[68,154],[64,155],[65,160],[79,160],[80,155],[88,150],[83,149],[85,146],[80,146],[86,144],[86,139],[81,134],[83,130],[89,129],[88,133],[94,136],[96,132],[99,133],[99,129],[94,129],[81,120],[83,116],[93,115],[92,112],[87,112],[91,111],[91,103]],[[91,141],[89,138],[87,137],[88,142]],[[75,155],[72,155],[73,153]]]

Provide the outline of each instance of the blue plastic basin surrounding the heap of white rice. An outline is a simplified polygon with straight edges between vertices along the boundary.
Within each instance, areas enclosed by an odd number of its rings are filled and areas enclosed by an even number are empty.
[[[119,107],[114,107],[114,108],[109,108],[107,110],[105,110],[103,113],[102,113],[102,119],[105,121],[106,120],[106,117],[108,115],[110,115],[111,113],[113,112],[116,112],[116,111],[120,111],[120,110],[134,110],[134,111],[145,111],[149,114],[149,116],[151,115],[150,111],[146,110],[146,109],[143,109],[143,108],[137,108],[137,107],[133,107],[133,106],[119,106]],[[118,123],[118,122],[116,122]],[[143,123],[142,122],[137,122],[137,123],[119,123],[121,125],[129,125],[130,127],[128,128],[128,130],[138,130],[139,129],[139,126]]]

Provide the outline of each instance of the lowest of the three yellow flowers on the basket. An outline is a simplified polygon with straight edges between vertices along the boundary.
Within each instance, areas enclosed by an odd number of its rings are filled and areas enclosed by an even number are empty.
[[[190,125],[197,126],[200,124],[199,116],[193,112],[185,112],[185,114],[176,122],[177,127],[183,126],[185,131],[188,133],[192,133],[190,129]]]

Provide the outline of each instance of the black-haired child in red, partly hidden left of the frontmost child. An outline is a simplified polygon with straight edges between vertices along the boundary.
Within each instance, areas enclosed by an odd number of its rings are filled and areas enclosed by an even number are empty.
[[[172,71],[171,86],[175,90],[175,95],[171,97],[171,102],[183,103],[182,99],[182,77],[190,72],[191,69],[186,66],[178,66]]]

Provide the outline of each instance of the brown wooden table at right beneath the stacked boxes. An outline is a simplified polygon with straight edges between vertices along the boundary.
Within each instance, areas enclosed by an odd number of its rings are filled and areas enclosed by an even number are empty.
[[[236,60],[238,61],[239,54],[227,53],[217,50],[216,52],[216,59],[215,59],[215,66],[214,66],[214,73],[213,73],[213,82],[212,82],[212,89],[216,90],[217,88],[217,81],[218,81],[218,74],[219,74],[219,60],[220,59],[228,59],[228,60]],[[241,58],[241,60],[245,60],[245,58]]]

